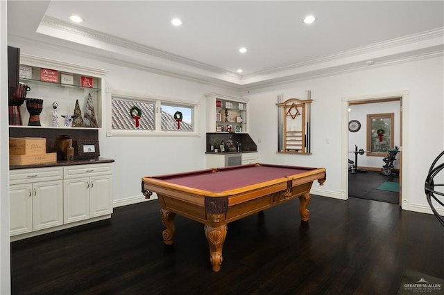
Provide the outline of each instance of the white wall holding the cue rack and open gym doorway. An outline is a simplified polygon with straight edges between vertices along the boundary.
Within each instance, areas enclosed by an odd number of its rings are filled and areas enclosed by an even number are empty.
[[[324,186],[314,185],[316,193],[341,198],[342,176],[341,100],[352,96],[376,97],[380,93],[407,91],[403,120],[402,208],[431,213],[425,199],[424,180],[430,164],[444,149],[444,66],[443,57],[434,57],[391,66],[371,66],[364,71],[291,82],[264,89],[250,89],[250,136],[257,141],[259,161],[287,163],[300,166],[325,167],[327,181]],[[278,93],[284,100],[305,98],[311,89],[312,154],[278,154],[275,103]],[[345,111],[347,111],[345,109]],[[261,142],[259,142],[259,139]],[[346,177],[346,176],[345,176]]]

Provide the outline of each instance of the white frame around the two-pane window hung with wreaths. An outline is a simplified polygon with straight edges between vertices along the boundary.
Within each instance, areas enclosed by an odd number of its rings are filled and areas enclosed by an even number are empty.
[[[112,129],[112,100],[131,100],[138,102],[153,102],[154,103],[154,129],[153,130],[138,130],[138,129]],[[191,125],[193,131],[167,131],[162,130],[162,116],[161,107],[164,105],[177,105],[178,107],[191,107]],[[118,136],[128,136],[128,137],[138,137],[138,136],[169,136],[169,137],[200,137],[199,133],[199,102],[190,102],[179,100],[178,98],[170,98],[166,96],[147,96],[146,94],[140,93],[128,93],[126,91],[111,90],[107,95],[107,119],[106,119],[106,136],[108,137],[118,137]]]

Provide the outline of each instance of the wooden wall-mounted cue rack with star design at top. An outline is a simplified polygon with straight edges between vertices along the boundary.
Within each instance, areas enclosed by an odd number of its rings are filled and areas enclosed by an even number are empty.
[[[307,99],[278,96],[278,152],[311,154],[311,91]]]

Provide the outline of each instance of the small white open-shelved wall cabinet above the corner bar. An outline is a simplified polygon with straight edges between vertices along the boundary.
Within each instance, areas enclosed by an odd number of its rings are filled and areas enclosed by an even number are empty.
[[[248,99],[221,93],[206,93],[207,132],[248,132]]]

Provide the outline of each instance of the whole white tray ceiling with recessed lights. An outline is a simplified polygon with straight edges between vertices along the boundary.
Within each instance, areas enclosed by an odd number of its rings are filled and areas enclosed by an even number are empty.
[[[444,1],[9,0],[8,38],[252,87],[443,54]]]

